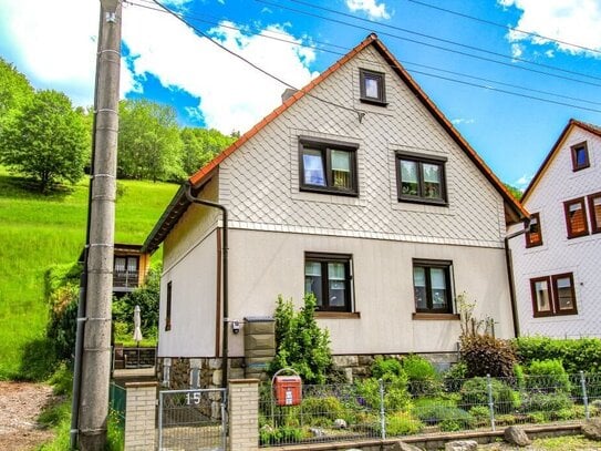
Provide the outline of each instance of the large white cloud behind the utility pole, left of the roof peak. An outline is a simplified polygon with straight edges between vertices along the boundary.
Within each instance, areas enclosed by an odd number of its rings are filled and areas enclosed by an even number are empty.
[[[34,88],[63,91],[75,104],[91,105],[100,2],[63,0],[58,8],[39,0],[0,0],[0,55]],[[213,32],[231,51],[297,88],[317,75],[308,69],[315,58],[310,49],[224,27]],[[267,27],[262,34],[274,32],[282,39],[284,25]],[[300,43],[290,34],[283,38]],[[145,78],[153,74],[164,86],[198,98],[194,114],[224,133],[245,132],[281,102],[283,84],[197,37],[172,16],[124,6],[123,41],[129,55],[121,66],[122,98],[143,92]]]

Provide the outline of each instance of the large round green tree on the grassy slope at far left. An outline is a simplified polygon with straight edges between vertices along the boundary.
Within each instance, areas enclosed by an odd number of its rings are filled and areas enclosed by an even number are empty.
[[[82,114],[58,91],[39,91],[4,123],[0,160],[33,178],[42,193],[83,175],[90,135]]]

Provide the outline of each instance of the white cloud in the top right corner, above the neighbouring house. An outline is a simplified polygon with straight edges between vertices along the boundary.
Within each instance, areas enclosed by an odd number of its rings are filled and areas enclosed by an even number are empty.
[[[599,0],[497,0],[502,7],[516,7],[521,17],[514,27],[540,37],[601,51],[601,2]],[[533,44],[548,44],[553,41],[510,31],[510,42],[530,41]],[[569,53],[599,53],[561,42],[553,42],[558,50]]]

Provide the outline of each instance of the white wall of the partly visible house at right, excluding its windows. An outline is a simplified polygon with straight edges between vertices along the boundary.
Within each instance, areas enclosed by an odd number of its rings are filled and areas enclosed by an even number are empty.
[[[573,172],[570,147],[583,141],[590,167]],[[601,139],[573,127],[525,203],[530,213],[540,215],[543,244],[526,248],[522,236],[510,243],[521,335],[601,336],[601,234],[568,239],[563,212],[563,202],[599,192]],[[535,318],[530,279],[562,273],[573,273],[578,315]]]

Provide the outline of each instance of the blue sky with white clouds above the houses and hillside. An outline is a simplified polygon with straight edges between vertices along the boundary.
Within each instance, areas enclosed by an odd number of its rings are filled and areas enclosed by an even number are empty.
[[[162,2],[205,35],[152,0],[124,2],[121,91],[173,105],[183,125],[245,132],[286,88],[207,37],[301,88],[371,31],[506,183],[526,186],[570,117],[601,124],[599,0]],[[91,105],[99,9],[0,0],[0,57]]]

